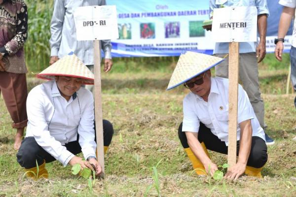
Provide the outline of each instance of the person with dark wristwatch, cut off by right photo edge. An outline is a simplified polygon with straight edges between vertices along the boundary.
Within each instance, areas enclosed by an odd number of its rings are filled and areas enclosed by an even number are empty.
[[[295,17],[296,0],[280,0],[279,4],[283,5],[284,8],[279,22],[278,38],[274,40],[276,44],[274,55],[278,61],[282,61],[284,38],[289,30],[293,17]],[[293,27],[292,46],[290,50],[291,81],[296,91],[296,22],[294,22]],[[296,97],[294,99],[294,104],[296,107]]]

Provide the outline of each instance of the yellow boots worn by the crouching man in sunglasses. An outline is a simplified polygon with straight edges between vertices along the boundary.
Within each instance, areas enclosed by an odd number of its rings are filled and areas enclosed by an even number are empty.
[[[204,149],[205,153],[210,158],[208,150],[207,150],[205,144],[202,142],[201,145],[202,145],[202,148]],[[199,161],[199,159],[197,159],[195,157],[195,155],[193,154],[191,149],[190,148],[185,148],[184,150],[185,150],[185,152],[186,152],[186,154],[187,154],[187,156],[188,156],[188,158],[189,158],[189,160],[190,160],[196,174],[205,175],[206,171],[205,171],[204,165]],[[246,170],[245,170],[245,174],[247,174],[248,176],[255,176],[255,177],[258,177],[258,178],[262,178],[262,175],[261,175],[262,168],[263,167],[255,168],[255,167],[247,166]]]

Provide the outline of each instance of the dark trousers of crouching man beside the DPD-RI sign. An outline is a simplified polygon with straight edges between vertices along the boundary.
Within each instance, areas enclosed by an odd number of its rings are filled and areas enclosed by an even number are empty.
[[[95,127],[96,128],[96,127]],[[112,140],[114,130],[112,124],[108,120],[103,120],[103,135],[104,135],[104,146],[109,146]],[[96,135],[96,132],[95,132]],[[78,142],[79,135],[77,134],[77,140],[69,142],[64,146],[68,151],[74,155],[81,153],[81,146]],[[95,137],[96,141],[96,137]],[[25,168],[36,167],[36,161],[38,165],[41,165],[45,160],[46,163],[55,161],[48,152],[46,152],[41,146],[39,146],[34,137],[26,137],[22,141],[22,145],[16,154],[17,162]]]

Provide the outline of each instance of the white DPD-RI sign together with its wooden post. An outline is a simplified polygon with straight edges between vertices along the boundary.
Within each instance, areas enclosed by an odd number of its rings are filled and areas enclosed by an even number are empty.
[[[102,86],[101,86],[101,41],[118,38],[117,12],[115,5],[82,6],[74,12],[77,40],[94,40],[94,99],[97,150],[96,156],[105,175]]]

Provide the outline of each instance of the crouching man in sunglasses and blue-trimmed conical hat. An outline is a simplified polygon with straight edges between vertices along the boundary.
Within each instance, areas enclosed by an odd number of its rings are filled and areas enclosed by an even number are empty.
[[[183,100],[183,123],[178,134],[182,146],[198,175],[218,169],[207,149],[227,154],[228,79],[212,78],[210,68],[224,59],[194,52],[180,56],[168,89],[184,84],[190,90]],[[225,178],[237,179],[243,173],[261,177],[267,162],[265,135],[246,92],[238,87],[237,164]]]

